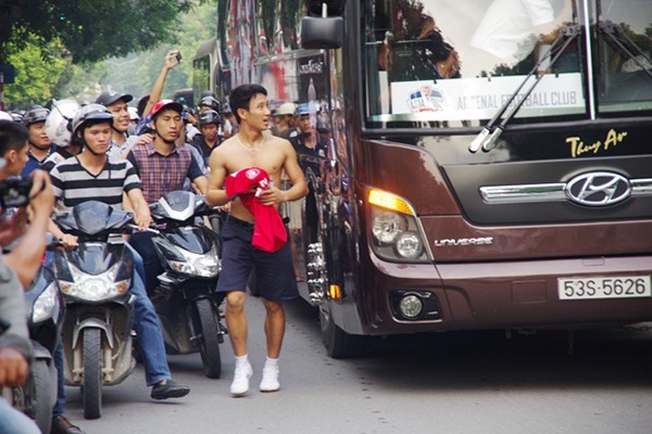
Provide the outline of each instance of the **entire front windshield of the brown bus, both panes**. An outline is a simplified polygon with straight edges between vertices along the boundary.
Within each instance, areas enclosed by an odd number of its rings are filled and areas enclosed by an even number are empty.
[[[590,3],[365,0],[367,127],[473,127],[513,104],[513,123],[649,114],[652,8]]]

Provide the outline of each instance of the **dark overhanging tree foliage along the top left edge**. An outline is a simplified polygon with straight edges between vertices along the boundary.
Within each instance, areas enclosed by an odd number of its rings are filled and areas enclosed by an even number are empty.
[[[10,26],[11,43],[26,47],[28,35],[45,48],[54,39],[70,51],[74,63],[147,50],[175,40],[179,15],[193,0],[9,0],[0,13]],[[3,29],[7,34],[7,28]],[[2,40],[2,50],[10,46]],[[1,61],[1,59],[0,59]]]

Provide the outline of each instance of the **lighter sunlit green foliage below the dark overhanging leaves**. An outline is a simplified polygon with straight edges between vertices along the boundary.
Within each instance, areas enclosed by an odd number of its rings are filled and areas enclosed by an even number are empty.
[[[196,4],[191,11],[176,14],[176,41],[162,41],[147,51],[112,56],[98,62],[73,62],[58,38],[46,42],[28,34],[20,46],[7,44],[7,61],[15,66],[15,82],[5,86],[4,101],[10,110],[46,104],[50,98],[73,98],[80,103],[95,101],[104,90],[130,93],[135,99],[149,92],[170,50],[183,53],[181,64],[170,72],[163,95],[171,98],[192,86],[192,59],[200,42],[216,33],[214,1]]]

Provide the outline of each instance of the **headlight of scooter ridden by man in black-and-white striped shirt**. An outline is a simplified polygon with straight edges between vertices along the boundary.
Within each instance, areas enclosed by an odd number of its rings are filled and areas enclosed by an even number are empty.
[[[106,272],[98,276],[83,272],[73,265],[68,267],[73,281],[60,280],[59,288],[61,288],[61,292],[71,297],[87,302],[103,302],[123,295],[131,284],[131,279],[114,281],[120,264],[115,264]]]

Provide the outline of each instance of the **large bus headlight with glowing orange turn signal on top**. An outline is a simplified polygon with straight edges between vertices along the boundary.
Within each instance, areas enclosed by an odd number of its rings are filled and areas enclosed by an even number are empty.
[[[371,235],[374,253],[393,261],[430,261],[425,235],[416,213],[404,199],[380,190],[371,190]]]

